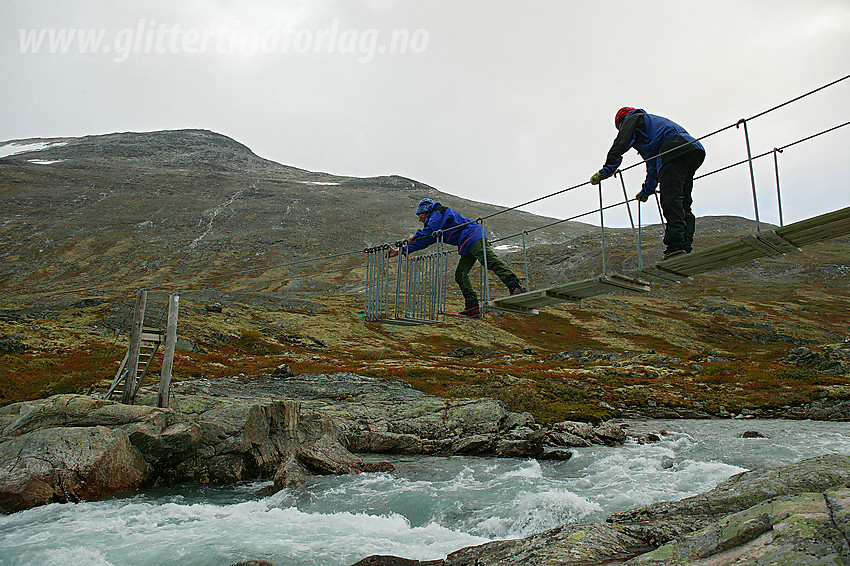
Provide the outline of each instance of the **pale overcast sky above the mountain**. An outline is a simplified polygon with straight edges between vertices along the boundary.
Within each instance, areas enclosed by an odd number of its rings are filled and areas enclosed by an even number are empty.
[[[621,106],[699,137],[850,74],[846,0],[0,0],[0,30],[0,140],[203,128],[283,164],[504,206],[586,181]],[[753,153],[848,120],[850,80],[750,122]],[[742,129],[703,143],[701,173],[746,157]],[[848,148],[850,126],[779,156],[786,222],[850,205]],[[771,157],[756,175],[778,223]],[[642,180],[626,172],[630,195]],[[595,191],[526,210],[571,217]],[[753,218],[747,167],[698,180],[694,200]]]

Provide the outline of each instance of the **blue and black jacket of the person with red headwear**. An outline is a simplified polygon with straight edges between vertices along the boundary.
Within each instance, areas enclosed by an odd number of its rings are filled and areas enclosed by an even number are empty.
[[[643,114],[643,125],[640,124],[640,120],[634,119],[638,117],[638,113]],[[632,119],[630,120],[630,118]],[[648,114],[640,108],[635,108],[626,114],[620,123],[620,132],[608,151],[608,159],[599,173],[602,174],[603,178],[613,175],[620,163],[623,162],[623,154],[633,147],[646,160],[646,180],[643,182],[642,192],[652,194],[655,192],[655,187],[658,186],[658,171],[661,170],[662,160],[670,157],[669,154],[661,157],[656,156],[662,153],[664,144],[671,141],[674,136],[681,138],[682,143],[693,142],[691,145],[705,152],[702,144],[673,120]]]

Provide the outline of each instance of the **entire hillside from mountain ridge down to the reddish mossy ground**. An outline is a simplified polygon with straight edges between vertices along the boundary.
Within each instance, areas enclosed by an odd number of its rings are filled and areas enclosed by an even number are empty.
[[[52,145],[0,159],[2,404],[108,387],[142,287],[149,326],[164,324],[168,294],[180,293],[177,380],[250,380],[286,363],[295,373],[351,371],[445,397],[495,397],[544,422],[793,416],[850,399],[847,237],[537,316],[367,323],[362,255],[324,256],[408,234],[422,196],[479,215],[497,207],[402,177],[287,167],[198,130],[16,143],[35,142]],[[360,217],[373,222],[351,221]],[[548,222],[511,212],[488,229]],[[700,218],[695,245],[752,230],[740,218]],[[593,227],[535,234],[532,288],[599,273]],[[609,269],[636,267],[631,233],[607,236]],[[647,227],[644,242],[647,261],[660,259],[660,227]],[[524,273],[521,253],[506,257]],[[448,299],[449,310],[461,308],[453,283]]]

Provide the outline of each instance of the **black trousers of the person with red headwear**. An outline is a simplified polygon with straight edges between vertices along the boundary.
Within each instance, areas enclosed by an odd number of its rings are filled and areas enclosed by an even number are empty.
[[[691,149],[664,162],[658,173],[661,185],[661,210],[667,226],[664,252],[693,249],[696,218],[691,211],[694,174],[705,160],[705,152]]]

